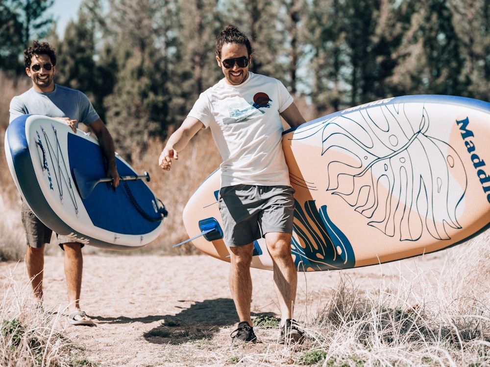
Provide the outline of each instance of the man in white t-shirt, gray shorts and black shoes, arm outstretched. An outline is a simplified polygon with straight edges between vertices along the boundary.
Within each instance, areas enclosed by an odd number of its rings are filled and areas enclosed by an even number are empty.
[[[281,116],[292,127],[305,122],[293,98],[277,79],[248,70],[248,38],[228,25],[216,40],[216,60],[224,74],[201,93],[182,125],[169,138],[159,165],[172,159],[202,128],[210,128],[221,153],[220,212],[224,240],[230,248],[230,290],[240,322],[234,342],[255,342],[250,315],[253,242],[265,237],[273,260],[274,284],[281,314],[279,342],[301,342],[293,319],[297,273],[291,255],[294,189],[282,150]]]

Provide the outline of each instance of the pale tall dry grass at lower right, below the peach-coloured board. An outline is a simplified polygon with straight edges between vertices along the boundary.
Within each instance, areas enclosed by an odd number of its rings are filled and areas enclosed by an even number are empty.
[[[400,267],[399,276],[384,276],[368,290],[341,272],[323,308],[301,317],[307,334],[301,346],[272,343],[258,353],[211,341],[213,353],[192,358],[206,366],[490,366],[489,283],[477,289],[466,282],[481,273],[478,284],[489,279],[488,240],[486,234],[447,251],[442,268]],[[468,252],[481,267],[471,266]],[[254,322],[257,335],[277,333],[277,322]]]

